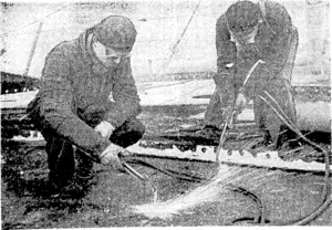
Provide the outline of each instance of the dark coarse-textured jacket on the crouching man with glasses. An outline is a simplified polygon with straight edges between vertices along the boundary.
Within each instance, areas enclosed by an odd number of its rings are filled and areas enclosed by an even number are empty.
[[[131,60],[116,69],[106,69],[95,58],[89,36],[56,45],[46,56],[40,92],[28,112],[41,128],[51,128],[61,137],[97,156],[110,140],[94,132],[86,122],[94,112],[115,127],[137,116],[142,107],[132,76]],[[112,93],[113,98],[108,98]]]

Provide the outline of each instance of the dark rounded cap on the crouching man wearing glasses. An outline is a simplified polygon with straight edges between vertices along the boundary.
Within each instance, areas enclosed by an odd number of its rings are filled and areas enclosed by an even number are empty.
[[[97,41],[106,48],[132,51],[136,40],[133,22],[122,15],[110,15],[93,28]]]

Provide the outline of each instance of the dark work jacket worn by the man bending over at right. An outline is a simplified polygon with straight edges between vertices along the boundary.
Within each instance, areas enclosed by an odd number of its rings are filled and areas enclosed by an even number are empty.
[[[215,82],[221,86],[221,94],[229,97],[229,102],[235,100],[237,90],[242,86],[249,70],[258,60],[266,63],[258,65],[248,80],[245,86],[248,97],[251,98],[268,87],[273,79],[282,77],[280,73],[290,51],[291,18],[282,6],[272,1],[266,1],[264,11],[255,43],[246,46],[237,45],[231,40],[225,13],[217,21],[218,72]]]

